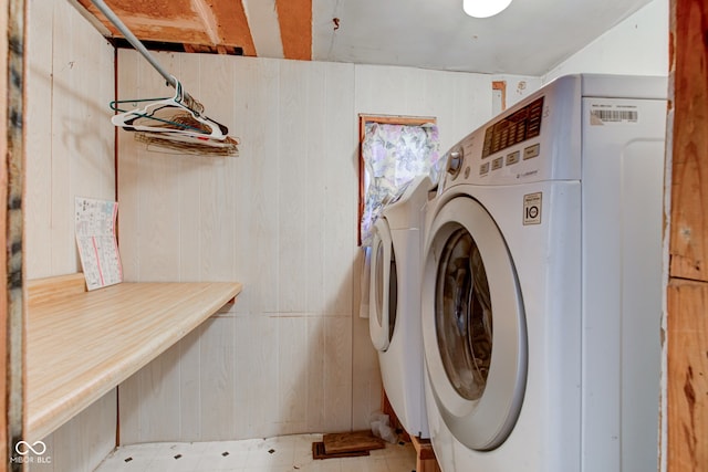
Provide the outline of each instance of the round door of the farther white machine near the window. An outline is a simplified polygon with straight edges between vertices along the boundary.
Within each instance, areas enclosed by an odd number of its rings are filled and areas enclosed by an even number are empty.
[[[394,334],[398,302],[396,256],[385,218],[374,224],[372,251],[368,331],[374,347],[385,352]]]

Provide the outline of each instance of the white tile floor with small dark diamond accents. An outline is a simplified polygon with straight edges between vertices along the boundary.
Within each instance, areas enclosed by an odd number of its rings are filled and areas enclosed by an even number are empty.
[[[409,442],[386,444],[371,455],[312,459],[322,434],[216,442],[156,442],[112,452],[95,472],[412,472],[416,452]]]

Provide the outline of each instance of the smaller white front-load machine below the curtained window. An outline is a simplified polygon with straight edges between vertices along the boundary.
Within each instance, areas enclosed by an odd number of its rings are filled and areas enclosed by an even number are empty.
[[[376,220],[373,232],[369,333],[384,389],[409,434],[428,438],[423,387],[420,258],[424,207],[431,182],[415,178]]]

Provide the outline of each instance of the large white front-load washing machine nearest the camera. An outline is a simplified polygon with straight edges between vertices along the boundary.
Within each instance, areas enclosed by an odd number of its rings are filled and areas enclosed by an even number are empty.
[[[561,77],[447,153],[421,276],[444,472],[657,470],[666,86]]]

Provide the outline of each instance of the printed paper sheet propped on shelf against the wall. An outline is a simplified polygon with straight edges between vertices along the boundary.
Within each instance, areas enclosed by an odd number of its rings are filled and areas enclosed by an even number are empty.
[[[76,245],[86,279],[94,290],[123,282],[123,266],[115,235],[118,203],[76,197]]]

